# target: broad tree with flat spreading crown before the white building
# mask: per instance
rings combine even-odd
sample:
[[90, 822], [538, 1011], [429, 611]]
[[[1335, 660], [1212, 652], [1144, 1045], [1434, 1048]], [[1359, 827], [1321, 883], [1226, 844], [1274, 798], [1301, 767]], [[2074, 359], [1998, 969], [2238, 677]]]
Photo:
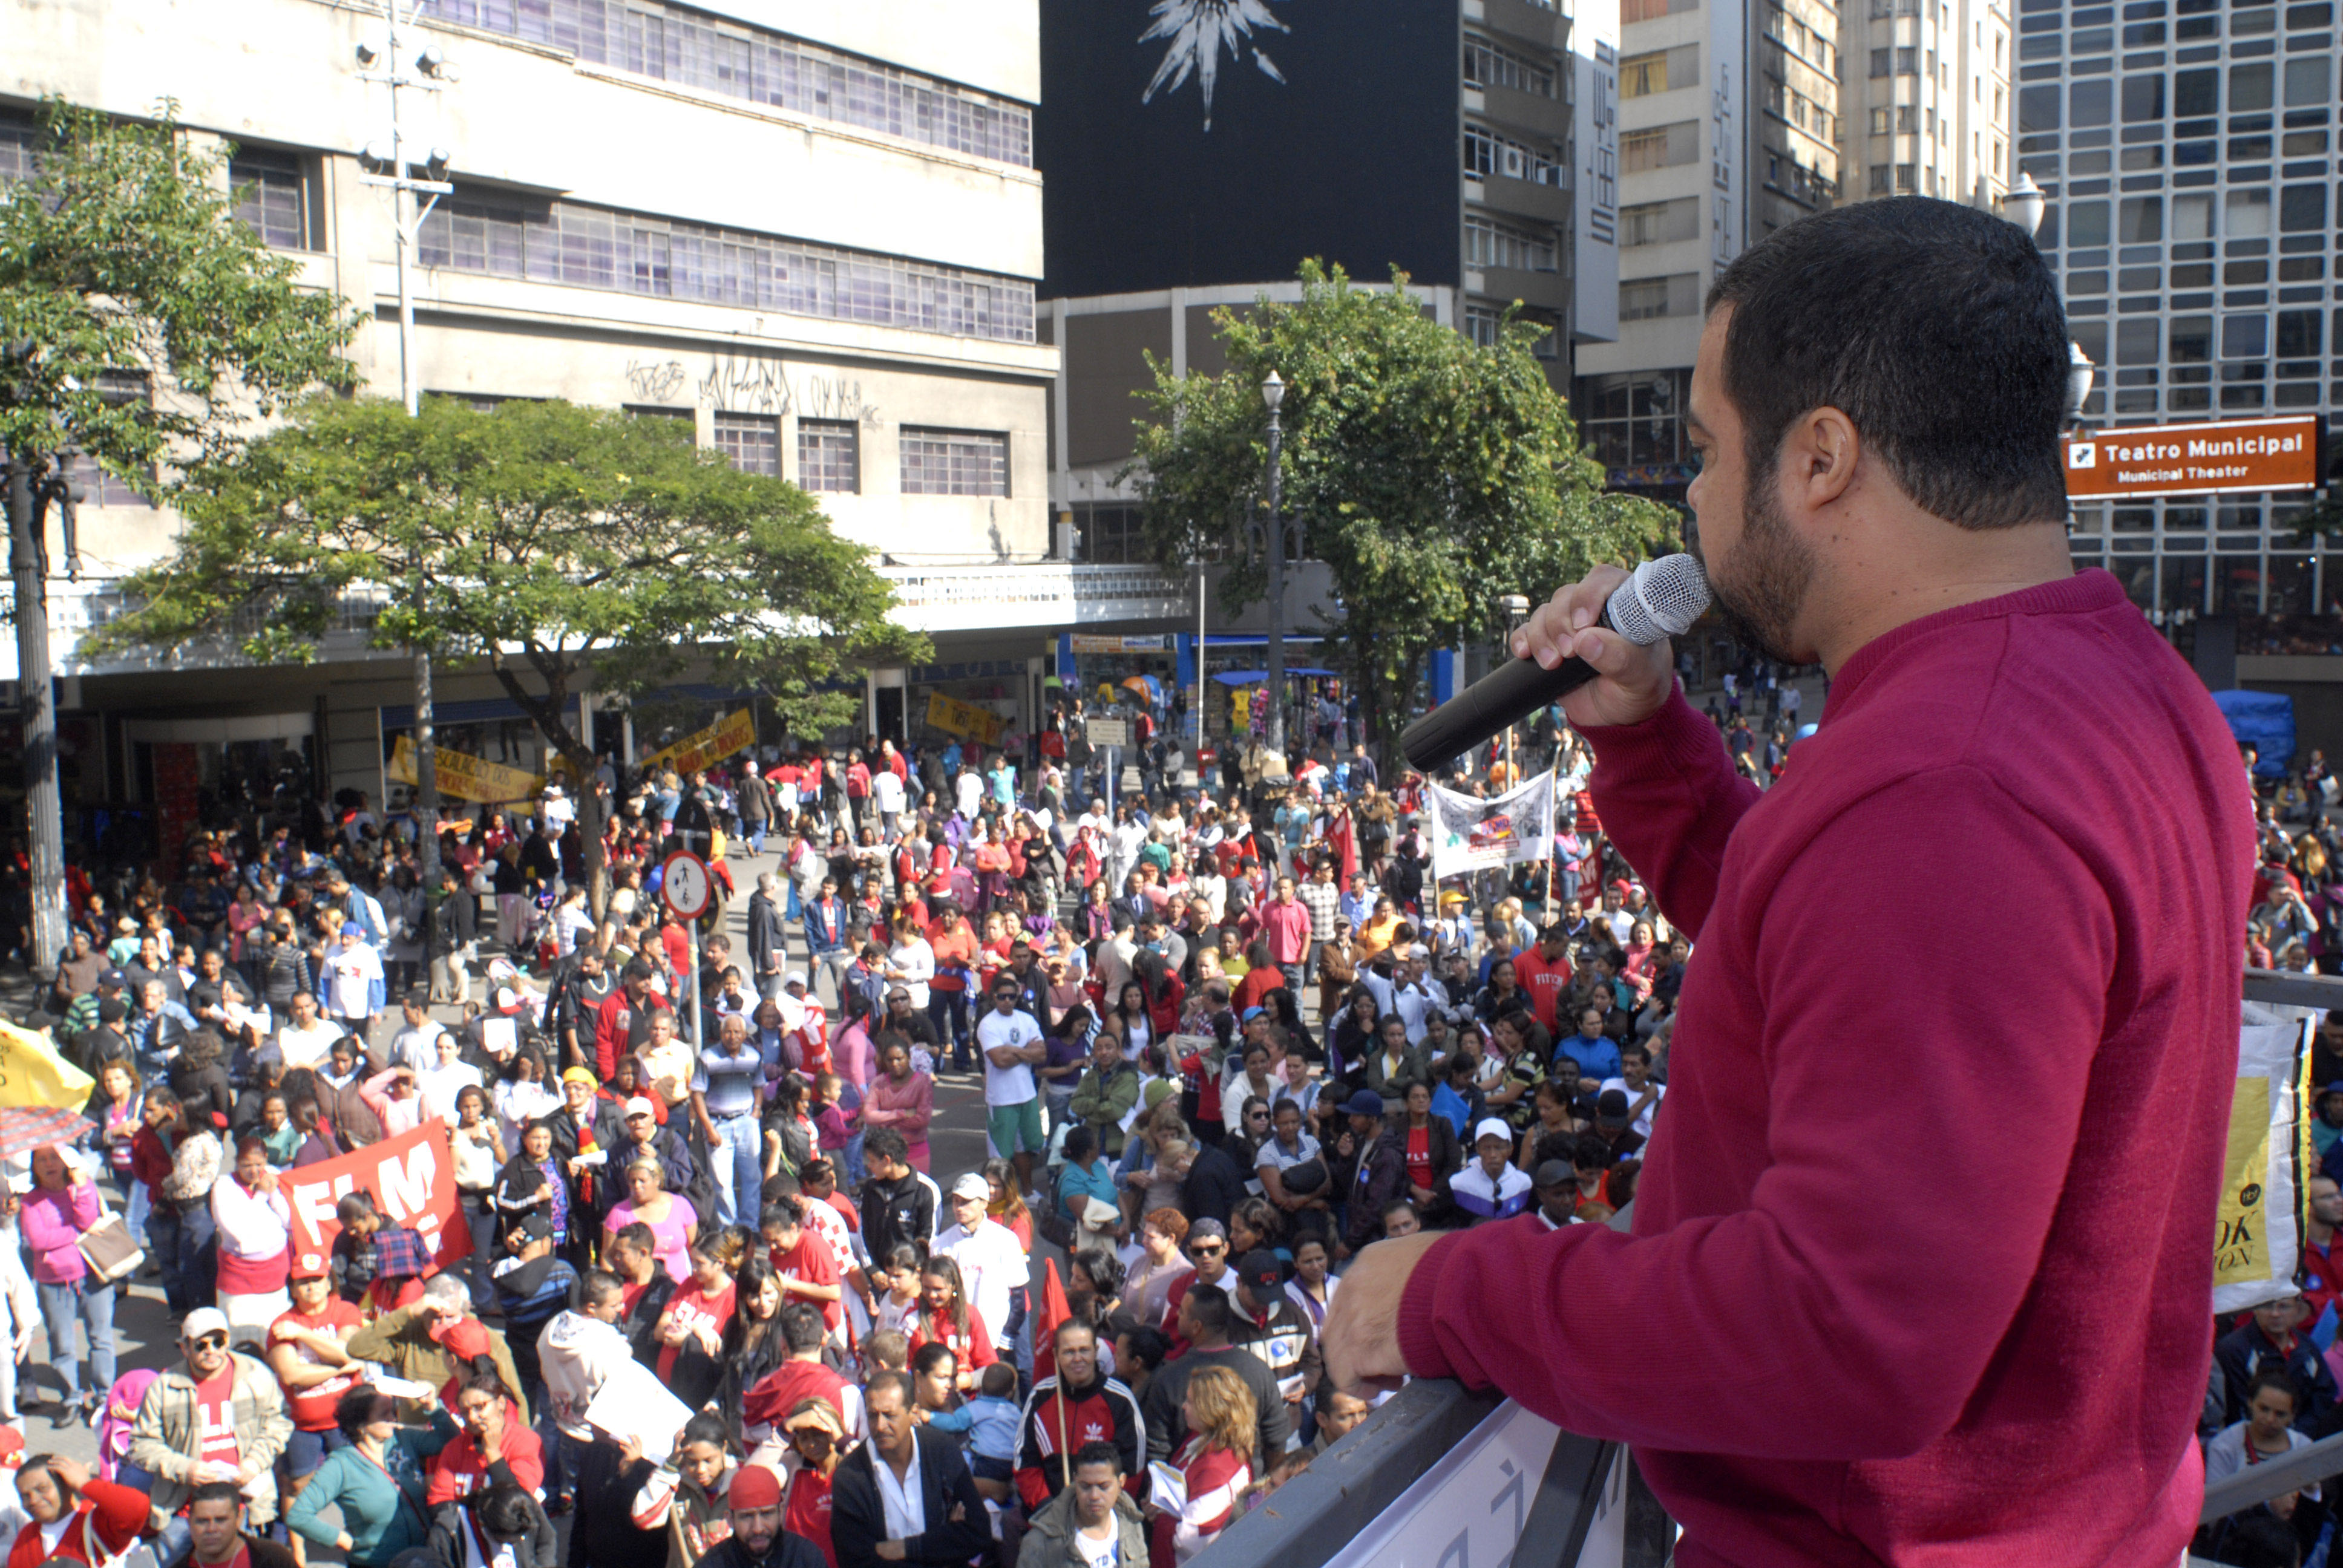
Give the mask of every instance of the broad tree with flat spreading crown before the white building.
[[[644, 696], [705, 670], [797, 731], [853, 720], [862, 661], [918, 661], [890, 584], [780, 478], [736, 471], [677, 420], [574, 403], [478, 413], [424, 398], [316, 398], [190, 473], [178, 551], [131, 579], [105, 640], [227, 638], [255, 663], [316, 656], [349, 598], [380, 598], [375, 647], [483, 659], [567, 771], [595, 757], [579, 691]], [[579, 790], [593, 902], [602, 806]]]

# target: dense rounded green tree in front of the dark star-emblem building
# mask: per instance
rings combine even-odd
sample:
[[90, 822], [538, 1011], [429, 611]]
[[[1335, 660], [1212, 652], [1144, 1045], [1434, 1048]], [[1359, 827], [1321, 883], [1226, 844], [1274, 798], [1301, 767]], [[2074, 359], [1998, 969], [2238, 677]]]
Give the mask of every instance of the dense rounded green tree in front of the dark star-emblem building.
[[1221, 600], [1258, 600], [1261, 382], [1286, 380], [1286, 527], [1333, 574], [1328, 659], [1350, 670], [1368, 734], [1387, 741], [1432, 649], [1502, 635], [1507, 593], [1544, 598], [1596, 563], [1657, 553], [1675, 539], [1675, 513], [1603, 492], [1603, 466], [1579, 452], [1570, 408], [1530, 352], [1544, 328], [1509, 314], [1483, 349], [1427, 316], [1396, 267], [1389, 291], [1354, 288], [1314, 260], [1300, 279], [1300, 302], [1214, 312], [1221, 375], [1176, 377], [1150, 359], [1132, 476], [1157, 560], [1225, 560]]

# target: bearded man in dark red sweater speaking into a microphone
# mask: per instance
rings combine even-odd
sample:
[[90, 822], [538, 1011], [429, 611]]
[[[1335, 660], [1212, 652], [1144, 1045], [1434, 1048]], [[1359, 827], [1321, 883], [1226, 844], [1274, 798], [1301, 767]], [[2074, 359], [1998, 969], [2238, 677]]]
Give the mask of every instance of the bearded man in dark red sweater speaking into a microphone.
[[[2195, 1523], [2252, 806], [2188, 666], [2069, 565], [2064, 377], [2017, 227], [1781, 230], [1710, 295], [1692, 504], [1741, 640], [1830, 670], [1821, 731], [1736, 778], [1668, 645], [1596, 626], [1610, 567], [1516, 640], [1600, 673], [1565, 710], [1603, 823], [1699, 940], [1668, 1104], [1633, 1235], [1371, 1247], [1326, 1364], [1631, 1441], [1685, 1568], [2170, 1568]], [[2027, 888], [2020, 963], [1980, 886]], [[1619, 1324], [1642, 1352], [1584, 1352]]]

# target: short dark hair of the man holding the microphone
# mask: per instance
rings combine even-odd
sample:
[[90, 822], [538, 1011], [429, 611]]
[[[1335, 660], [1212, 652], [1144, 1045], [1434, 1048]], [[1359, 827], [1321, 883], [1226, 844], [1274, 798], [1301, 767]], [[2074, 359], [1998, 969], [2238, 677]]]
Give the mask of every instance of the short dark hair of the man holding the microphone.
[[2067, 518], [2067, 312], [2015, 223], [1926, 197], [1856, 202], [1743, 251], [1708, 291], [1720, 305], [1753, 492], [1790, 424], [1828, 405], [1956, 527]]

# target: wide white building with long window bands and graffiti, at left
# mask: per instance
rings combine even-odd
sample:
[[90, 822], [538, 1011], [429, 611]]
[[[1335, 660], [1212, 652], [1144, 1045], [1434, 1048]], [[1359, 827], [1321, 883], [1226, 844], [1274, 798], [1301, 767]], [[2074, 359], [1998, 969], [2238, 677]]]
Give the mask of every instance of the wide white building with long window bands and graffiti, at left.
[[[356, 152], [389, 131], [382, 75], [405, 73], [405, 136], [445, 148], [455, 185], [412, 255], [419, 387], [675, 417], [794, 478], [883, 553], [902, 619], [937, 640], [937, 666], [874, 675], [869, 717], [900, 727], [923, 687], [1029, 715], [1043, 628], [1125, 609], [1047, 560], [1031, 0], [401, 12], [419, 14], [382, 59], [380, 0], [0, 0], [0, 176], [26, 166], [45, 94], [112, 115], [173, 98], [194, 136], [234, 141], [239, 213], [300, 281], [366, 312], [363, 387], [396, 396], [391, 204]], [[157, 757], [185, 748], [206, 788], [274, 757], [382, 799], [412, 698], [405, 663], [356, 633], [262, 680], [80, 659], [80, 628], [173, 527], [91, 478], [84, 584], [54, 586], [68, 802], [143, 804]], [[438, 696], [443, 745], [541, 762], [478, 670], [450, 663]]]

